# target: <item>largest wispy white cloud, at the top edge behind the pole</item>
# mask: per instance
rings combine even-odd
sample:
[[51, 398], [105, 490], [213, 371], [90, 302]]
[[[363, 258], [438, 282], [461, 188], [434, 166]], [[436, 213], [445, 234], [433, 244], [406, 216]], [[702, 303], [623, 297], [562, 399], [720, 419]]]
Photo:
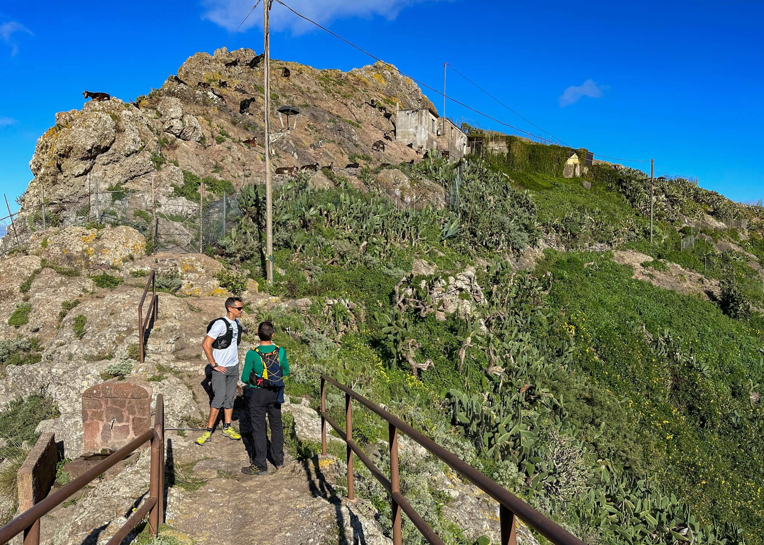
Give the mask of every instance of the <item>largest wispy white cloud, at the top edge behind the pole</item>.
[[[418, 4], [424, 0], [290, 0], [288, 3], [295, 11], [321, 24], [348, 17], [371, 17], [381, 15], [393, 20], [403, 8]], [[252, 9], [256, 0], [202, 0], [205, 11], [202, 18], [219, 24], [227, 31], [235, 31], [241, 20]], [[266, 0], [262, 0], [266, 2]], [[274, 2], [270, 11], [270, 25], [274, 30], [291, 30], [301, 34], [313, 27], [308, 21], [298, 18], [283, 5]], [[241, 26], [240, 32], [251, 27], [263, 26], [262, 3], [252, 12]]]

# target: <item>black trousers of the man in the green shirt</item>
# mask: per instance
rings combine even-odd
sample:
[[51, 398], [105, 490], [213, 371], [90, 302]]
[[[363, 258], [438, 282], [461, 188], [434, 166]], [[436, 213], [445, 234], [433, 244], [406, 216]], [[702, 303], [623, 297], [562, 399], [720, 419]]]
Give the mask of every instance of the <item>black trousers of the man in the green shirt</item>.
[[254, 437], [254, 463], [260, 469], [267, 469], [268, 438], [265, 431], [265, 415], [270, 424], [270, 455], [273, 463], [284, 463], [284, 431], [281, 423], [281, 404], [277, 403], [278, 390], [251, 388], [249, 395], [249, 417]]

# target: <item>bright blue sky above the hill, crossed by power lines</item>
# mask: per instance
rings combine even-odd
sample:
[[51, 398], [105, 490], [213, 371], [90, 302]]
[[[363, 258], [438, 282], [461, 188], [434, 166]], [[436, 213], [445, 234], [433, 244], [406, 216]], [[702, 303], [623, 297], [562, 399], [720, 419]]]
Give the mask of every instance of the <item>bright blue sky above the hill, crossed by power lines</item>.
[[[128, 99], [160, 86], [188, 56], [225, 44], [253, 2], [2, 2], [2, 192], [24, 190], [37, 137], [57, 111], [81, 108], [86, 88]], [[574, 147], [654, 157], [656, 176], [698, 176], [737, 201], [764, 197], [764, 2], [285, 2], [436, 89], [450, 63]], [[274, 58], [373, 62], [278, 5], [273, 18]], [[228, 48], [260, 52], [261, 24], [258, 7]], [[447, 93], [538, 132], [450, 70]], [[454, 103], [446, 114], [501, 128]]]

